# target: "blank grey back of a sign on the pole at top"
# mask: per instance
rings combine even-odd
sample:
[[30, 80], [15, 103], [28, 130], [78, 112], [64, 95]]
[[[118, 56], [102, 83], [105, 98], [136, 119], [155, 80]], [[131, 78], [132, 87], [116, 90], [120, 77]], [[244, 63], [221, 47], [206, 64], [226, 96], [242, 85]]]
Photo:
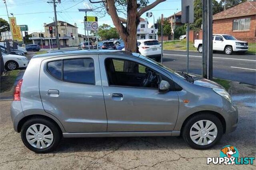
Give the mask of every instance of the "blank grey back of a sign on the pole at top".
[[181, 11], [182, 23], [194, 22], [194, 0], [181, 0]]

